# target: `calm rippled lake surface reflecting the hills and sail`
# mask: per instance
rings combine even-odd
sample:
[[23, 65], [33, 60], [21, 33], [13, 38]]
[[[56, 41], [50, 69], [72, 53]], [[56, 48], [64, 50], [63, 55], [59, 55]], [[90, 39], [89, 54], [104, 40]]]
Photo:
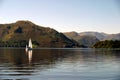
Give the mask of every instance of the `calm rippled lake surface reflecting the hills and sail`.
[[0, 80], [120, 80], [120, 50], [1, 48]]

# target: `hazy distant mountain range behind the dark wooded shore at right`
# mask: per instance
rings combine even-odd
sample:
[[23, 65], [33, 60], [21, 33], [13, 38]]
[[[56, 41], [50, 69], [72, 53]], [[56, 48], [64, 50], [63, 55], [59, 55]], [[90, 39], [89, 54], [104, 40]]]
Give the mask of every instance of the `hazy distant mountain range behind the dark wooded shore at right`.
[[99, 32], [66, 32], [64, 33], [68, 38], [76, 40], [79, 44], [85, 46], [92, 46], [96, 42], [104, 40], [120, 40], [120, 33], [118, 34], [106, 34]]

